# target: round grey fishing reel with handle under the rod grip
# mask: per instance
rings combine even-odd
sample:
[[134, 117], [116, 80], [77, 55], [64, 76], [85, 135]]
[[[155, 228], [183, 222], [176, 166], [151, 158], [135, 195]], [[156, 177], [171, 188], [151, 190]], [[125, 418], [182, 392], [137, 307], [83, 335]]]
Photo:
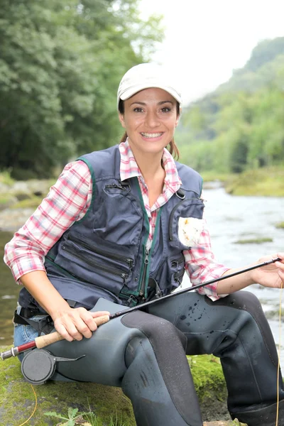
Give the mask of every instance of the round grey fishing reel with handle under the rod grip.
[[62, 358], [54, 356], [45, 349], [33, 349], [23, 357], [21, 371], [23, 377], [32, 385], [43, 385], [55, 373], [56, 363], [61, 361], [77, 361], [79, 358]]

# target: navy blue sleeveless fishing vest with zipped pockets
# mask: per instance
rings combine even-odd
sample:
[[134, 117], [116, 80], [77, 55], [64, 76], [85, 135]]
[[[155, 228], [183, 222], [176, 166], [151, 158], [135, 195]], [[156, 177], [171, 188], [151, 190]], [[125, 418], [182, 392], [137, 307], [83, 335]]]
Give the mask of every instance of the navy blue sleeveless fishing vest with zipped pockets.
[[[180, 190], [160, 207], [150, 251], [149, 221], [137, 178], [121, 182], [119, 146], [82, 155], [92, 175], [92, 201], [45, 256], [48, 278], [71, 306], [91, 309], [99, 297], [123, 305], [160, 297], [178, 287], [185, 272], [180, 218], [202, 219], [202, 178], [176, 162]], [[38, 306], [28, 291], [23, 307]]]

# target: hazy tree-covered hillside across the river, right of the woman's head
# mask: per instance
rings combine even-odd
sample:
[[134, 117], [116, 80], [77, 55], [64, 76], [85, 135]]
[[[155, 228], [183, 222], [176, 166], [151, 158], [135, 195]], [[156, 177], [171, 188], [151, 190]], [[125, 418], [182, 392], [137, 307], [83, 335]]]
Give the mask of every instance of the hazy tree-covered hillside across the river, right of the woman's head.
[[264, 40], [229, 82], [187, 107], [180, 158], [217, 173], [283, 165], [284, 38]]

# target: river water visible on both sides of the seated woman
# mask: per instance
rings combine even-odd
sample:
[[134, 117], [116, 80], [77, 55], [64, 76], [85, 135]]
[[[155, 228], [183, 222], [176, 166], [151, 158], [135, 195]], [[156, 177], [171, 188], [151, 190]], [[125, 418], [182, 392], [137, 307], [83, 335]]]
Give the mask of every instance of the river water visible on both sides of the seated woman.
[[[212, 238], [212, 247], [219, 262], [231, 268], [245, 267], [264, 254], [284, 251], [284, 229], [275, 225], [284, 221], [284, 198], [236, 197], [226, 194], [222, 187], [204, 189], [205, 216]], [[24, 221], [23, 221], [24, 222]], [[11, 232], [0, 232], [0, 256]], [[270, 238], [262, 244], [238, 244], [239, 240]], [[186, 279], [186, 278], [185, 278]], [[13, 343], [11, 317], [18, 297], [18, 285], [13, 283], [9, 268], [0, 262], [0, 346]], [[252, 285], [263, 304], [277, 345], [280, 344], [280, 361], [284, 368], [284, 324], [281, 329], [279, 311], [284, 321], [284, 290], [261, 288]]]

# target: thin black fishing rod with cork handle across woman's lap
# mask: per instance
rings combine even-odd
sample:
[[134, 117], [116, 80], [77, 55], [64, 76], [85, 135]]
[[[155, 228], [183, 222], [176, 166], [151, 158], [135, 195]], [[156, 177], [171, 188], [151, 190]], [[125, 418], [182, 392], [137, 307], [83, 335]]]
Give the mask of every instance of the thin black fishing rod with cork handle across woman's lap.
[[[234, 277], [235, 275], [240, 275], [241, 273], [252, 271], [253, 269], [261, 268], [262, 266], [270, 265], [271, 263], [275, 263], [277, 261], [281, 261], [281, 259], [275, 258], [275, 259], [272, 259], [271, 261], [258, 263], [258, 265], [250, 266], [249, 268], [242, 269], [241, 271], [236, 271], [234, 273], [229, 273], [228, 275], [223, 275], [222, 277], [219, 277], [219, 278], [214, 278], [213, 280], [209, 280], [206, 283], [200, 283], [200, 284], [197, 284], [197, 285], [193, 285], [190, 288], [184, 288], [183, 290], [177, 291], [175, 293], [170, 293], [169, 295], [165, 295], [163, 297], [159, 297], [157, 299], [149, 300], [148, 302], [141, 303], [141, 305], [129, 307], [128, 309], [116, 312], [115, 314], [102, 315], [102, 317], [94, 318], [94, 322], [96, 322], [97, 327], [99, 327], [100, 325], [102, 325], [106, 322], [109, 322], [110, 320], [114, 320], [114, 318], [121, 317], [121, 315], [128, 314], [129, 312], [133, 312], [133, 311], [142, 309], [143, 307], [153, 305], [154, 303], [158, 303], [161, 300], [166, 300], [166, 299], [169, 299], [170, 297], [175, 297], [177, 295], [181, 295], [183, 293], [187, 293], [187, 292], [190, 292], [192, 290], [197, 290], [197, 288], [205, 287], [206, 285], [210, 285], [210, 284], [222, 281], [222, 280], [226, 280], [226, 278], [231, 278], [231, 277]], [[4, 359], [10, 358], [11, 356], [18, 356], [18, 354], [21, 354], [24, 351], [28, 351], [29, 349], [33, 349], [33, 348], [42, 349], [45, 346], [48, 346], [49, 344], [53, 344], [55, 342], [59, 342], [60, 340], [64, 340], [64, 337], [62, 337], [61, 334], [59, 334], [58, 332], [45, 334], [43, 336], [36, 337], [35, 340], [33, 340], [32, 342], [28, 342], [26, 344], [22, 344], [20, 346], [13, 347], [13, 348], [9, 349], [8, 351], [0, 352], [0, 357], [4, 361]]]

